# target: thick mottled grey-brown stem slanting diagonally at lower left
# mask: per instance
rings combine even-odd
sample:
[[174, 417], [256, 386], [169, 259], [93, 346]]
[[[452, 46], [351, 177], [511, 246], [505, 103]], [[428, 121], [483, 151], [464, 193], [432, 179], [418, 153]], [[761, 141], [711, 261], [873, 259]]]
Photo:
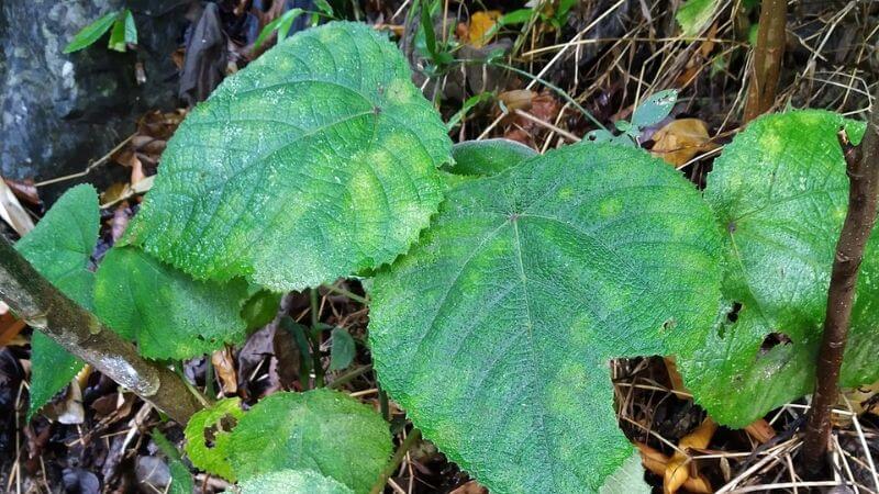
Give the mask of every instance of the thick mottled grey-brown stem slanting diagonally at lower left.
[[2, 236], [0, 300], [30, 326], [178, 423], [186, 424], [202, 408], [171, 370], [141, 357], [134, 345], [65, 296]]

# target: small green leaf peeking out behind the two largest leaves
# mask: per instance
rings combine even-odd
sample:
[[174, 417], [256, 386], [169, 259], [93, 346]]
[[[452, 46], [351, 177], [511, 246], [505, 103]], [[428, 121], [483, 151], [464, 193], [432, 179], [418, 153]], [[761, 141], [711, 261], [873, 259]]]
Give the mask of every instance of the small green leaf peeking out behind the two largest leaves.
[[455, 175], [491, 176], [537, 156], [537, 151], [510, 139], [466, 141], [452, 148]]

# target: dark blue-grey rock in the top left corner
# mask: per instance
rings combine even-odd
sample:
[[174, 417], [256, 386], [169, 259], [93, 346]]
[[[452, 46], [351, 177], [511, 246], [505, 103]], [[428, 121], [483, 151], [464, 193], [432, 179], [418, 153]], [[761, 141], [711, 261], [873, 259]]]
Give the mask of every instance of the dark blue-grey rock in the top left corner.
[[[0, 175], [45, 180], [81, 171], [134, 132], [141, 114], [177, 105], [170, 55], [190, 3], [0, 1]], [[134, 13], [136, 52], [111, 52], [104, 37], [81, 52], [62, 53], [84, 26], [123, 7]], [[144, 85], [135, 80], [138, 61]]]

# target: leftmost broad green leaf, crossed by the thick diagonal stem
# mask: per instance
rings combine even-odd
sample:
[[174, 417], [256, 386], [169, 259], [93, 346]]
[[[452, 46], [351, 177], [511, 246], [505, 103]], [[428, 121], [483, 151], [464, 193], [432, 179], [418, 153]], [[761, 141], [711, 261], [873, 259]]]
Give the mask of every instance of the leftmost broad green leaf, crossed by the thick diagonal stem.
[[[89, 258], [98, 242], [98, 194], [89, 186], [68, 190], [36, 227], [15, 244], [34, 269], [65, 295], [92, 308], [94, 276]], [[82, 361], [48, 336], [31, 338], [31, 402], [27, 416], [45, 405], [82, 369]]]

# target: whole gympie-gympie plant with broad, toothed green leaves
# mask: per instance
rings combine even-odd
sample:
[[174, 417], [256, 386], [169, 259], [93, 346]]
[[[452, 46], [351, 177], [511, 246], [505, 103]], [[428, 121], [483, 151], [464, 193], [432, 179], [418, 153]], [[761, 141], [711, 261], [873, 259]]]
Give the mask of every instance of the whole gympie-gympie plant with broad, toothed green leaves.
[[[381, 385], [480, 483], [646, 492], [616, 425], [611, 359], [677, 356], [696, 401], [736, 427], [811, 391], [846, 210], [841, 127], [864, 132], [822, 111], [759, 119], [704, 192], [610, 143], [453, 147], [397, 48], [330, 23], [191, 112], [96, 272], [88, 187], [16, 247], [153, 359], [241, 343], [278, 292], [370, 277]], [[844, 385], [879, 379], [875, 249]], [[32, 412], [81, 367], [41, 334], [33, 344]], [[369, 491], [391, 442], [374, 411], [314, 390], [247, 412], [221, 401], [190, 420], [186, 449], [245, 492], [347, 493]]]

